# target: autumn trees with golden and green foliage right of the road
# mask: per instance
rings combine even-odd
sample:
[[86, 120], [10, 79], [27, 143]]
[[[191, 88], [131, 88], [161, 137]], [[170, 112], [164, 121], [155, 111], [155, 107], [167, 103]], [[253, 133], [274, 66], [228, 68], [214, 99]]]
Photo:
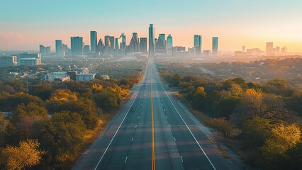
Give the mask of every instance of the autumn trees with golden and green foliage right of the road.
[[211, 117], [208, 125], [240, 141], [248, 163], [259, 169], [301, 169], [302, 93], [284, 79], [262, 85], [241, 78], [162, 76], [179, 87], [192, 108]]

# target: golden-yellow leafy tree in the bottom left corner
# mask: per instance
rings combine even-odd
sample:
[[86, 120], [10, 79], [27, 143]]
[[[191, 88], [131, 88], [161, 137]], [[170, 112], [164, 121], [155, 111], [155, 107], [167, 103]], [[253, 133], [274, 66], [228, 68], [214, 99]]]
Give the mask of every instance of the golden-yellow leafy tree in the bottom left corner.
[[40, 164], [44, 151], [39, 149], [38, 140], [19, 142], [18, 146], [7, 146], [0, 154], [0, 162], [5, 169], [25, 169]]

